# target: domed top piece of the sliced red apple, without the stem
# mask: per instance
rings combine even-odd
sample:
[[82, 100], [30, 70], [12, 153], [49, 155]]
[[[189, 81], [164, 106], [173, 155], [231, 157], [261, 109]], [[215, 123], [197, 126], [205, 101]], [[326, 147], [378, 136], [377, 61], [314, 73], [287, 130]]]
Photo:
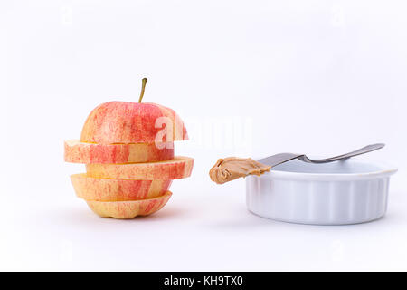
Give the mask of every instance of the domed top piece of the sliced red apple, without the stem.
[[[167, 117], [173, 134], [165, 142], [187, 140], [184, 122], [172, 109], [150, 102], [105, 102], [90, 112], [83, 125], [80, 141], [99, 144], [156, 142], [163, 127], [156, 120]], [[164, 126], [165, 127], [165, 126]]]

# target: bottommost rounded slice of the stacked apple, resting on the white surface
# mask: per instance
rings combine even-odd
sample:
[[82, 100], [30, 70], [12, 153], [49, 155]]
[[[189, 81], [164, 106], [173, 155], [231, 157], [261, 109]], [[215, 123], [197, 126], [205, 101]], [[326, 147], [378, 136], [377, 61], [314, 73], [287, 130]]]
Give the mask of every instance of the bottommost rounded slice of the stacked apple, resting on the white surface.
[[86, 202], [91, 210], [103, 218], [135, 218], [151, 215], [163, 208], [171, 195], [171, 191], [166, 191], [158, 198], [128, 201], [86, 200]]

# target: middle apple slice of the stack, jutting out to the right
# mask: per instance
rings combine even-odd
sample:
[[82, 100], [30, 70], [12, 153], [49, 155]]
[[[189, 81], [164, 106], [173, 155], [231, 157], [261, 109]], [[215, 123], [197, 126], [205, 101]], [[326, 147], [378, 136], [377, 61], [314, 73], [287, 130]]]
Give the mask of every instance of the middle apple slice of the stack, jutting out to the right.
[[185, 179], [191, 175], [194, 159], [177, 156], [173, 160], [129, 163], [87, 164], [87, 175], [98, 179]]

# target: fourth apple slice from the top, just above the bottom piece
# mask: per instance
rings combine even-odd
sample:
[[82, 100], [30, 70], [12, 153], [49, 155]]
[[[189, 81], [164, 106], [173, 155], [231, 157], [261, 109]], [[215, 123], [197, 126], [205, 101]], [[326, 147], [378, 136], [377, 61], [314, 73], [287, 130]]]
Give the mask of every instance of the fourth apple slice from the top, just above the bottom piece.
[[121, 201], [156, 198], [169, 189], [172, 180], [94, 179], [73, 174], [71, 181], [79, 198], [98, 201]]

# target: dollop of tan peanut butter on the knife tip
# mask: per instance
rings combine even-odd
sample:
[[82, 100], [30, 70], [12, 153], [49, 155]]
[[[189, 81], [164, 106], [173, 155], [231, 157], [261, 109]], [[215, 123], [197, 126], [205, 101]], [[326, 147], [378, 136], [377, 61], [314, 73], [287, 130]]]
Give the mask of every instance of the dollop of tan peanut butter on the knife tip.
[[213, 168], [209, 171], [211, 179], [218, 183], [244, 178], [249, 174], [260, 176], [266, 171], [270, 171], [270, 166], [261, 164], [251, 158], [228, 157], [217, 160]]

